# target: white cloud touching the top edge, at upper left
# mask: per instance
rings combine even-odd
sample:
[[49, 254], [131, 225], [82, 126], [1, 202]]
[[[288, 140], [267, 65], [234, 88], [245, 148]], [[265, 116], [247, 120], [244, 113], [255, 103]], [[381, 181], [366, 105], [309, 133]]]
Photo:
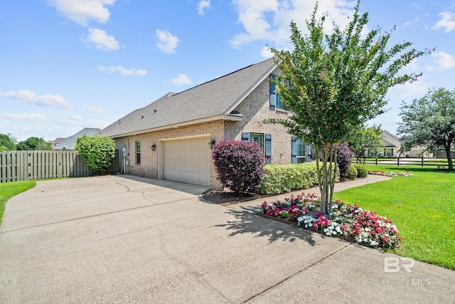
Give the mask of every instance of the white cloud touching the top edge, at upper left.
[[116, 0], [49, 0], [60, 16], [73, 20], [82, 26], [90, 21], [105, 23], [109, 20], [106, 6], [113, 5]]

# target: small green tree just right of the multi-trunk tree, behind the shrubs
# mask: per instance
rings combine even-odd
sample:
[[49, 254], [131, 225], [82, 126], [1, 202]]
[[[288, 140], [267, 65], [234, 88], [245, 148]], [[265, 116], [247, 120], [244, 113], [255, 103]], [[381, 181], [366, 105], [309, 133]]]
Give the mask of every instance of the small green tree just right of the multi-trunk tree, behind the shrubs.
[[[365, 164], [366, 158], [371, 154], [373, 154], [373, 157], [377, 156], [378, 149], [382, 145], [381, 133], [380, 125], [368, 127], [368, 125], [362, 124], [350, 130], [348, 145], [354, 154], [356, 163]], [[370, 150], [370, 153], [368, 153], [368, 150]]]

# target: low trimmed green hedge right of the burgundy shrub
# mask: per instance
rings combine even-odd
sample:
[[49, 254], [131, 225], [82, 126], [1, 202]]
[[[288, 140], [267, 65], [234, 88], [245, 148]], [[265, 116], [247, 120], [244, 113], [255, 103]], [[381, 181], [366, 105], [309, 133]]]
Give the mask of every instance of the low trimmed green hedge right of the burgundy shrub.
[[[339, 181], [337, 170], [336, 181]], [[316, 162], [302, 164], [267, 164], [258, 189], [259, 194], [281, 194], [297, 189], [308, 189], [318, 184]]]

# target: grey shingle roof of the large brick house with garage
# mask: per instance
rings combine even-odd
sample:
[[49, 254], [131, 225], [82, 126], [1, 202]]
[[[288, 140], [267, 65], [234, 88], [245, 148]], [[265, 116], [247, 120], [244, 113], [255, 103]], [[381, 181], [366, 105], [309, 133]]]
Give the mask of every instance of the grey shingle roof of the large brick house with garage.
[[102, 130], [101, 134], [116, 137], [228, 114], [275, 66], [273, 58], [269, 58], [181, 93], [168, 93], [120, 118]]

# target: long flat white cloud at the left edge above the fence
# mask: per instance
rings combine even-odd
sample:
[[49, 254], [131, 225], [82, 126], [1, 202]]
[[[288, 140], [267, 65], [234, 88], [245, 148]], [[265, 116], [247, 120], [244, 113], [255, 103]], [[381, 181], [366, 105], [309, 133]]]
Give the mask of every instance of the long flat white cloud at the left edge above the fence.
[[10, 97], [15, 100], [23, 101], [24, 103], [34, 103], [36, 105], [43, 105], [46, 107], [61, 107], [65, 109], [73, 108], [69, 103], [68, 100], [63, 98], [60, 94], [50, 95], [38, 95], [36, 96], [35, 92], [31, 90], [18, 90], [18, 91], [8, 91], [8, 92], [1, 92], [0, 96], [3, 97]]

